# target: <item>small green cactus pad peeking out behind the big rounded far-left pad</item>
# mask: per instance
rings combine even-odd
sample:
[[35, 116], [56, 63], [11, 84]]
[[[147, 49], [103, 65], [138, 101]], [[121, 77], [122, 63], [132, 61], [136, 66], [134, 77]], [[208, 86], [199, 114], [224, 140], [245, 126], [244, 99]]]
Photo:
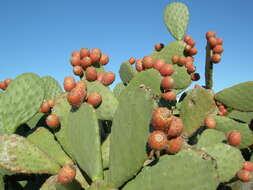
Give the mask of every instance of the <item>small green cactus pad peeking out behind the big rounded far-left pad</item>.
[[44, 76], [41, 80], [44, 83], [45, 100], [55, 99], [62, 93], [61, 85], [53, 77]]

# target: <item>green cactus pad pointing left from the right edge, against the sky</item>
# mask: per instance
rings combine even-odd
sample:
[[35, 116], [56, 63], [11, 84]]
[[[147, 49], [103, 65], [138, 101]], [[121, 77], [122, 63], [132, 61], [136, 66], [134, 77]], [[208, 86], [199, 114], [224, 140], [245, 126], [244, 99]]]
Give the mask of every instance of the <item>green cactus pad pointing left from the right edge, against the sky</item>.
[[240, 111], [253, 111], [253, 81], [226, 88], [215, 99], [224, 105]]

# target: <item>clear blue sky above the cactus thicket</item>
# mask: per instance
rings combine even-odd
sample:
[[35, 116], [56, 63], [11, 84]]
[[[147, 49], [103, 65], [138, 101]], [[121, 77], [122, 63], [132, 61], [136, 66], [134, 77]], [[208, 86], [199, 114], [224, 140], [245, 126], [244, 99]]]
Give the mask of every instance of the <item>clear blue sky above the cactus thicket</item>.
[[[174, 41], [163, 23], [170, 0], [1, 0], [0, 80], [24, 72], [50, 75], [61, 84], [73, 75], [71, 52], [100, 48], [110, 56], [105, 67], [118, 73], [131, 56], [150, 55], [155, 43]], [[196, 40], [197, 71], [204, 84], [205, 32], [224, 40], [215, 65], [214, 91], [252, 77], [253, 1], [183, 0], [190, 11], [187, 34]], [[77, 77], [76, 77], [77, 78]], [[120, 78], [114, 82], [119, 82]], [[195, 83], [194, 83], [195, 84]]]

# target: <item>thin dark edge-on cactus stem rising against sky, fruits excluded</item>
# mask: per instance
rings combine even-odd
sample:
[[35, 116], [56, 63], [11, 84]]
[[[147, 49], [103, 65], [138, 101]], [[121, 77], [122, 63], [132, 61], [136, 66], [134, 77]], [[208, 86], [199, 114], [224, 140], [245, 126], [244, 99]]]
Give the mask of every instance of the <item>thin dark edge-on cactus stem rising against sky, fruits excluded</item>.
[[213, 88], [213, 63], [211, 61], [212, 50], [210, 45], [206, 45], [206, 66], [205, 66], [205, 79], [206, 89]]

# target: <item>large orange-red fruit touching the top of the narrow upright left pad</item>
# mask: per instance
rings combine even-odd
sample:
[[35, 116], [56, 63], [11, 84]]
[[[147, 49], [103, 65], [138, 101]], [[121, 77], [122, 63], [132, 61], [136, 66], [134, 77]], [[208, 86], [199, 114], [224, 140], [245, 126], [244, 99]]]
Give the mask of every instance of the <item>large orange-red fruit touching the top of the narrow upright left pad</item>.
[[67, 96], [67, 100], [71, 106], [80, 106], [85, 97], [87, 96], [87, 92], [85, 89], [81, 87], [75, 87]]

